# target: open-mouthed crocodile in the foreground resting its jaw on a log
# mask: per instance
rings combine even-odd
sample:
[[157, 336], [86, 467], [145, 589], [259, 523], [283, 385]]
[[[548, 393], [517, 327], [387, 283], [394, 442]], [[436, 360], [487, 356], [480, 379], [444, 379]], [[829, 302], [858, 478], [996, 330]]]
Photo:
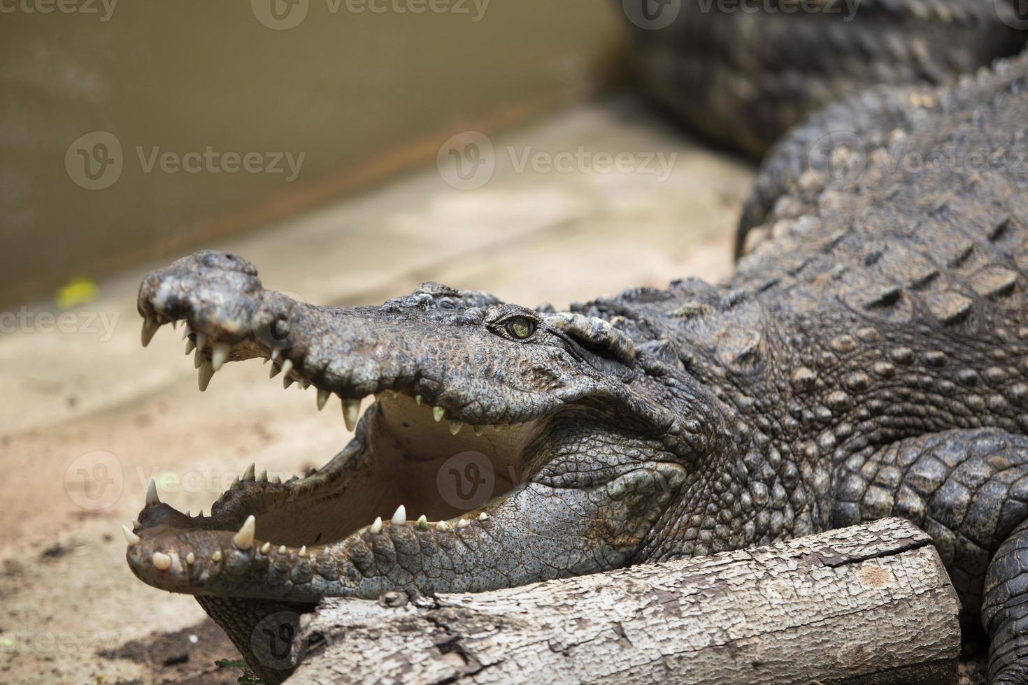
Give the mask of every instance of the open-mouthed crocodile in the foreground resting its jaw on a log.
[[[952, 44], [982, 40], [968, 26]], [[210, 516], [151, 483], [130, 568], [194, 595], [280, 682], [325, 597], [510, 587], [897, 516], [934, 541], [990, 682], [1028, 683], [1028, 54], [842, 97], [778, 126], [747, 203], [763, 237], [722, 283], [556, 311], [435, 282], [308, 304], [215, 251], [149, 273], [144, 345], [185, 321], [200, 390], [260, 358], [318, 409], [337, 397], [354, 437], [302, 478], [251, 464]], [[841, 131], [845, 154], [815, 145]]]

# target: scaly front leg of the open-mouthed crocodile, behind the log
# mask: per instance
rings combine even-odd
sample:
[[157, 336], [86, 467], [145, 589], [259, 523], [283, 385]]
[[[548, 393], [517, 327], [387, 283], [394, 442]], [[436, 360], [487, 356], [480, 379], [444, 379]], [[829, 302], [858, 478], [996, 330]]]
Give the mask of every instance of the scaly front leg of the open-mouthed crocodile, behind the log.
[[934, 539], [965, 636], [980, 617], [986, 630], [990, 681], [1028, 682], [1028, 437], [948, 430], [853, 455], [837, 471], [833, 524], [888, 516]]

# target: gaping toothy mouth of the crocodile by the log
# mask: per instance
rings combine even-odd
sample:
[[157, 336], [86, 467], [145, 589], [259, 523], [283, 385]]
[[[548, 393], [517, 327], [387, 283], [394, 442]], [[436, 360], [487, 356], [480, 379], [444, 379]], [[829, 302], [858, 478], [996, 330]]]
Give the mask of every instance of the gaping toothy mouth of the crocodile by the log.
[[[157, 319], [144, 321], [144, 345], [159, 326]], [[131, 566], [146, 582], [204, 594], [221, 584], [211, 582], [219, 574], [263, 570], [261, 596], [274, 587], [284, 591], [280, 599], [297, 601], [348, 594], [363, 571], [358, 560], [339, 564], [326, 555], [331, 545], [350, 540], [350, 546], [374, 547], [376, 536], [390, 529], [395, 535], [399, 528], [434, 542], [472, 526], [487, 529], [490, 502], [521, 480], [522, 456], [539, 420], [472, 423], [457, 418], [461, 408], [442, 404], [444, 392], [427, 397], [421, 392], [429, 389], [402, 386], [379, 390], [360, 416], [361, 397], [321, 387], [321, 379], [305, 375], [303, 361], [288, 350], [262, 353], [251, 341], [217, 342], [193, 326], [186, 322], [183, 339], [186, 353], [194, 354], [200, 390], [227, 361], [264, 356], [269, 375], [281, 376], [285, 388], [314, 386], [319, 410], [334, 401], [356, 436], [302, 478], [269, 480], [250, 464], [211, 516], [190, 517], [161, 503], [151, 482], [146, 506], [133, 529], [124, 529]], [[297, 584], [306, 589], [296, 593]], [[238, 584], [235, 589], [247, 594]]]

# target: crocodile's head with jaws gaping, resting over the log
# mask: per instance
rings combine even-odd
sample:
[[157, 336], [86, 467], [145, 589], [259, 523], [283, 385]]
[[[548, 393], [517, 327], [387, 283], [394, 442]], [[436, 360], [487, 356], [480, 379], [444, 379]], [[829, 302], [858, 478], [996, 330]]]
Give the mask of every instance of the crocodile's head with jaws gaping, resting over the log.
[[201, 390], [222, 365], [261, 358], [355, 429], [304, 478], [251, 465], [207, 517], [151, 484], [127, 559], [159, 588], [314, 603], [612, 569], [685, 479], [688, 431], [633, 340], [600, 318], [437, 283], [381, 306], [310, 305], [218, 252], [147, 275], [138, 307], [144, 344], [186, 321]]

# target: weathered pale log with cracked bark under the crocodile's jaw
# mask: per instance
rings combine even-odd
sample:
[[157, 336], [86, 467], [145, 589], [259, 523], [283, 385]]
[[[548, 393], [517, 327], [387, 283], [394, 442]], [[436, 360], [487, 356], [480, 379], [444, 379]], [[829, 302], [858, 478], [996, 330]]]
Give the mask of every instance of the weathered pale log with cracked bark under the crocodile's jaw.
[[290, 682], [946, 683], [958, 608], [927, 535], [885, 519], [477, 595], [327, 600]]

